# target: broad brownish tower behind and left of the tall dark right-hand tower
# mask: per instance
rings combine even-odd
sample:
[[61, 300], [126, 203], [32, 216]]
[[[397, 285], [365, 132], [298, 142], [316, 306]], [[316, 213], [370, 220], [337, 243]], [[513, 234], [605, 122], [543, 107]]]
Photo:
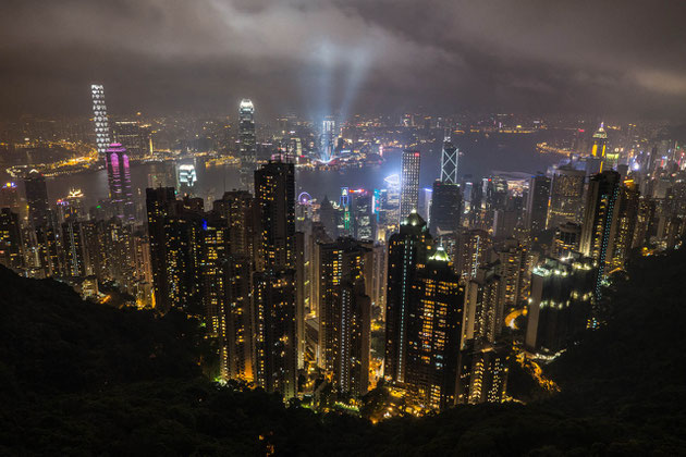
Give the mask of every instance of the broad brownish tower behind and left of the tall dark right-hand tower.
[[548, 228], [565, 222], [578, 223], [584, 208], [584, 170], [561, 166], [555, 170], [550, 189]]

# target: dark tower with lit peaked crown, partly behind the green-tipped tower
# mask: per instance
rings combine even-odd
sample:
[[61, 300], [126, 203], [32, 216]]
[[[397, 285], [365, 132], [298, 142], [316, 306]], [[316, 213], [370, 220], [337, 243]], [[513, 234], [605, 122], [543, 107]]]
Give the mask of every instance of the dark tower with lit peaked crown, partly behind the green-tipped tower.
[[383, 375], [395, 382], [405, 381], [412, 284], [417, 268], [426, 263], [431, 249], [431, 235], [416, 211], [403, 220], [400, 233], [393, 234], [388, 244]]

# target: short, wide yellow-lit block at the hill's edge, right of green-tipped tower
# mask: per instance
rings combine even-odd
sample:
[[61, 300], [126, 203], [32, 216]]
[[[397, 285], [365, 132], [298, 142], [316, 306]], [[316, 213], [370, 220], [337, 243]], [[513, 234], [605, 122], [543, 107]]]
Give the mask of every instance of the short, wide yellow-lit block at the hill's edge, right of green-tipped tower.
[[510, 349], [505, 344], [468, 341], [460, 351], [458, 404], [505, 400]]

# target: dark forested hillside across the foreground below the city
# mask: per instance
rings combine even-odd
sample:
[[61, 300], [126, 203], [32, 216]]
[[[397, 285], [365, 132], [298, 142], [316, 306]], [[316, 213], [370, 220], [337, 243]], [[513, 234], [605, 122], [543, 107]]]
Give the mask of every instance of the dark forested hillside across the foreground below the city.
[[628, 270], [607, 326], [549, 367], [559, 395], [372, 427], [217, 386], [201, 375], [197, 322], [82, 301], [0, 268], [0, 454], [685, 454], [686, 254]]

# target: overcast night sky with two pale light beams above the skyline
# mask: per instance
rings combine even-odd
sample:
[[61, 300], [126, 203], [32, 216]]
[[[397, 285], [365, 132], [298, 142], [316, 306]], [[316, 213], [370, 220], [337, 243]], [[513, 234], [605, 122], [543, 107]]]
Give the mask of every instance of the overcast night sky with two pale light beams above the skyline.
[[686, 2], [2, 0], [0, 114], [686, 116]]

